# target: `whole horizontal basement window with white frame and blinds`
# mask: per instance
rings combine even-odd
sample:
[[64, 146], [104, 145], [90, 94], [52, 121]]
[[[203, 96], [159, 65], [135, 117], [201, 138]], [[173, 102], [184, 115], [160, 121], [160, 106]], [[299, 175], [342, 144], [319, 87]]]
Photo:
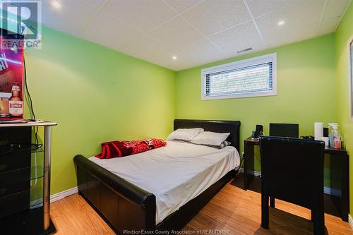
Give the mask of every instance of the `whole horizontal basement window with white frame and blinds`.
[[277, 54], [201, 70], [201, 100], [277, 95]]

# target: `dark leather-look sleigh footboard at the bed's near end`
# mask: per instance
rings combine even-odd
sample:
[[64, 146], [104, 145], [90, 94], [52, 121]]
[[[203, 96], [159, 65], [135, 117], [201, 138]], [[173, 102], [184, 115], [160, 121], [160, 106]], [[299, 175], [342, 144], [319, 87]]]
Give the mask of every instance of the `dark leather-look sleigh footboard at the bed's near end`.
[[[107, 169], [76, 155], [78, 191], [115, 232], [155, 230], [155, 195], [121, 179]], [[116, 213], [117, 212], [117, 213]]]

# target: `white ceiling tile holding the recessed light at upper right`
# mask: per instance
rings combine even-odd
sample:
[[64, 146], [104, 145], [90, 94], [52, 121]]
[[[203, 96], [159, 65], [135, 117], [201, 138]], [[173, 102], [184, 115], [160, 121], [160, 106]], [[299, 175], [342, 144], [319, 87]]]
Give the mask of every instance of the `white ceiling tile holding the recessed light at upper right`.
[[[297, 42], [318, 35], [323, 11], [322, 0], [306, 0], [256, 18], [258, 28], [269, 47]], [[280, 20], [285, 25], [278, 26]]]

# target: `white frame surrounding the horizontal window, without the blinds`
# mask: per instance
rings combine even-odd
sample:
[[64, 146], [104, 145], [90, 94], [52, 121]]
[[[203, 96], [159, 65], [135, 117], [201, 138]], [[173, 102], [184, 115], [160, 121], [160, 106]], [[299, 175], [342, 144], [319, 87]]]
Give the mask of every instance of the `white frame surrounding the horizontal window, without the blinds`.
[[[272, 61], [273, 65], [273, 90], [256, 91], [256, 92], [243, 92], [232, 95], [206, 95], [206, 75], [208, 73], [217, 73], [222, 71], [231, 70], [234, 68], [251, 66]], [[244, 59], [241, 61], [235, 61], [227, 64], [221, 64], [219, 66], [213, 66], [209, 68], [201, 69], [201, 100], [223, 100], [223, 99], [237, 99], [244, 97], [263, 97], [263, 96], [275, 96], [277, 95], [277, 53], [266, 54], [263, 56], [257, 56], [250, 59]]]

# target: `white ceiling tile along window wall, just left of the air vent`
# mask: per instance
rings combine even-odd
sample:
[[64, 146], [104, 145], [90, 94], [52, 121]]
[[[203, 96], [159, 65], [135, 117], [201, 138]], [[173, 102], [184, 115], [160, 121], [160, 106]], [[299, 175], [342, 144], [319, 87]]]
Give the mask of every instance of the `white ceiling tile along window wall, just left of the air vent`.
[[178, 58], [175, 61], [177, 67], [183, 69], [208, 64], [227, 57], [215, 44], [205, 38], [173, 49], [173, 54]]

